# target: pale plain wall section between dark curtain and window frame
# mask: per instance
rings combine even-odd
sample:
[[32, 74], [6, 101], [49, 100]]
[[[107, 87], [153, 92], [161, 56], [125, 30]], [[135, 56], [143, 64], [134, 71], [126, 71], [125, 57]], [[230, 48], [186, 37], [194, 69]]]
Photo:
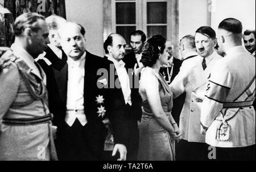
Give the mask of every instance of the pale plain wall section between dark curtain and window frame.
[[84, 26], [86, 50], [101, 57], [104, 55], [103, 1], [65, 0], [67, 20]]

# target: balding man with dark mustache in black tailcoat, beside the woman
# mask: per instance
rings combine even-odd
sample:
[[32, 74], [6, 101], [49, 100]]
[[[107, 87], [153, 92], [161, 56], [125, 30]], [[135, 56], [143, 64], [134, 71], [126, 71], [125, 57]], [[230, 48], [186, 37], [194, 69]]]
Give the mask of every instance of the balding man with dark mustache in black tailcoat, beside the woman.
[[105, 83], [102, 89], [105, 92], [106, 115], [114, 132], [113, 155], [118, 150], [121, 154], [119, 160], [137, 160], [139, 142], [137, 120], [142, 115], [142, 100], [138, 88], [133, 88], [131, 85], [133, 69], [122, 61], [125, 46], [125, 39], [117, 33], [110, 34], [104, 42], [106, 55], [101, 68], [106, 69], [108, 75], [102, 76], [101, 79], [105, 79], [108, 83]]

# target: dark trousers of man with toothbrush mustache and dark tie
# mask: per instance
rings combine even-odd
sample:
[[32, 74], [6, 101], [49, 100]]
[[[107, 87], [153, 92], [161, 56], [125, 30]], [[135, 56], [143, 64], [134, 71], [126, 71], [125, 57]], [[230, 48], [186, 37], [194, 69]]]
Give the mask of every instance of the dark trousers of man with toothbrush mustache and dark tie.
[[189, 142], [187, 140], [176, 141], [175, 154], [177, 161], [207, 161], [208, 147], [206, 143]]

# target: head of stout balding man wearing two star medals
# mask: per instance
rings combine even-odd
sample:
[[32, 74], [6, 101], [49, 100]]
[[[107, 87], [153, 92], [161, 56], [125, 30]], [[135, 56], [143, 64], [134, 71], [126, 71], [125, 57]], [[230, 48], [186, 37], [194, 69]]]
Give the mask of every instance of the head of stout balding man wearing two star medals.
[[75, 61], [85, 52], [85, 38], [81, 33], [80, 25], [67, 22], [59, 29], [61, 46], [68, 57]]

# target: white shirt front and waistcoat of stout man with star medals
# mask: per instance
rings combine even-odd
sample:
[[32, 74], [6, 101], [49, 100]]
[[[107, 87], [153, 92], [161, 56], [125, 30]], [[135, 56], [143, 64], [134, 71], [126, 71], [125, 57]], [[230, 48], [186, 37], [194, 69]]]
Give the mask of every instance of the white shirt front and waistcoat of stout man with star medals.
[[84, 71], [85, 55], [74, 61], [68, 57], [68, 91], [67, 91], [67, 113], [65, 122], [72, 126], [76, 118], [85, 126], [87, 123], [84, 114]]

